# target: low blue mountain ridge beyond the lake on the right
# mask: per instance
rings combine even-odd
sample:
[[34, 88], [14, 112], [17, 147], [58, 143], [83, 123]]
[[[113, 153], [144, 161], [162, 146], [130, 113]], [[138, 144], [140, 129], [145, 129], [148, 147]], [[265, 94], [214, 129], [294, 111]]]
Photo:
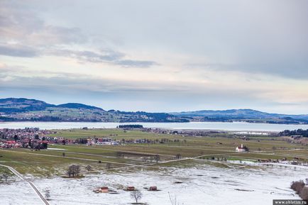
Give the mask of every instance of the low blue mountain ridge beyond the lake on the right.
[[251, 123], [308, 123], [308, 115], [266, 113], [253, 109], [202, 110], [170, 113], [190, 121], [246, 121]]

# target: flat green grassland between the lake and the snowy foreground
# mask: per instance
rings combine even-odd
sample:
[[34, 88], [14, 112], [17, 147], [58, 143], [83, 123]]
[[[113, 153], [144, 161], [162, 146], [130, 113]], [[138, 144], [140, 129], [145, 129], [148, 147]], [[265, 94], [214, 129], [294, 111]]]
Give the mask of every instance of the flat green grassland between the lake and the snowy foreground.
[[[49, 145], [52, 150], [33, 151], [30, 149], [0, 149], [0, 163], [14, 167], [22, 174], [34, 176], [65, 175], [67, 167], [78, 164], [82, 172], [84, 167], [91, 165], [94, 172], [116, 171], [119, 169], [134, 170], [139, 167], [191, 166], [194, 163], [207, 163], [220, 167], [228, 167], [216, 162], [219, 157], [229, 160], [288, 160], [299, 157], [303, 162], [308, 161], [308, 147], [295, 143], [287, 143], [282, 138], [251, 137], [243, 140], [234, 134], [213, 134], [207, 137], [182, 137], [148, 133], [143, 131], [123, 131], [121, 129], [89, 129], [57, 131], [53, 136], [64, 138], [114, 138], [180, 140], [180, 142], [128, 144], [125, 145]], [[236, 153], [237, 145], [244, 144], [250, 148], [249, 153]], [[275, 149], [273, 149], [275, 147]], [[65, 157], [63, 157], [65, 153]], [[175, 159], [180, 154], [181, 159]], [[155, 155], [160, 155], [158, 164]], [[214, 157], [215, 160], [209, 160]], [[1, 170], [0, 170], [1, 172]]]

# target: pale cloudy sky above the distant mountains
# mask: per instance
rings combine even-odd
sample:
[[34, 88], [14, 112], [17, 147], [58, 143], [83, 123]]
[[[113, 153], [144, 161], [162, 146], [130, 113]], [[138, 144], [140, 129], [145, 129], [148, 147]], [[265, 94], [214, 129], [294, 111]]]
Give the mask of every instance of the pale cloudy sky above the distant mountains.
[[0, 0], [0, 98], [308, 113], [306, 0]]

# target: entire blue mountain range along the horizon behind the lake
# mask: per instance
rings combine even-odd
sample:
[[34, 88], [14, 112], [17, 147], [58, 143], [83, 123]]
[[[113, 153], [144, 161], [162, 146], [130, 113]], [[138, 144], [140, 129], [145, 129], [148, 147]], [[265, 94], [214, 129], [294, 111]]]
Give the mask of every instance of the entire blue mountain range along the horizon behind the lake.
[[48, 104], [25, 98], [0, 99], [0, 121], [92, 121], [92, 122], [188, 122], [246, 121], [250, 123], [308, 123], [308, 115], [265, 113], [253, 109], [225, 111], [186, 111], [179, 113], [148, 113], [144, 111], [105, 111], [79, 103]]

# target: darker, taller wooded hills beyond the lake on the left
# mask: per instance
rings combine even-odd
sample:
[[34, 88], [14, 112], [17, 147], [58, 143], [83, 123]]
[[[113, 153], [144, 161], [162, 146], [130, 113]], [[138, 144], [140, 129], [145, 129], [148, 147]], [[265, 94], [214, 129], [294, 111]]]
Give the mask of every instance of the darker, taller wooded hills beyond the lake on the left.
[[104, 111], [86, 104], [48, 104], [24, 98], [0, 99], [0, 121], [187, 122], [169, 113]]

